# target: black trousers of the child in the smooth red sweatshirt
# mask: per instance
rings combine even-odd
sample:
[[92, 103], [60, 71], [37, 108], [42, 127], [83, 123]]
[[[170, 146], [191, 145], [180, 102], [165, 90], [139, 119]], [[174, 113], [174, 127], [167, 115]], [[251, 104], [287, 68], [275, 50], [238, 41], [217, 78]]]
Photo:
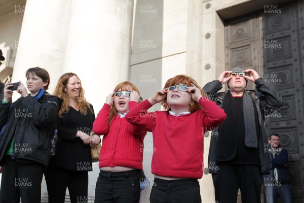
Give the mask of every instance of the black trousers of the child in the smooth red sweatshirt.
[[200, 184], [197, 179], [154, 179], [150, 193], [151, 203], [196, 203], [202, 202]]

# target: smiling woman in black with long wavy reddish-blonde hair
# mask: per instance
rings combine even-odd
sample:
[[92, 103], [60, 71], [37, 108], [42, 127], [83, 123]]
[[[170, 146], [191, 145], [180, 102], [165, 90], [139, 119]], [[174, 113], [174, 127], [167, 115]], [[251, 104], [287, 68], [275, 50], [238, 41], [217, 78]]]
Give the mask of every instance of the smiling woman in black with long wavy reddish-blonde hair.
[[89, 144], [98, 144], [100, 138], [90, 138], [95, 115], [84, 92], [74, 73], [63, 74], [54, 91], [63, 104], [57, 119], [58, 150], [45, 174], [49, 203], [64, 202], [66, 188], [71, 202], [88, 200], [88, 172], [92, 171]]

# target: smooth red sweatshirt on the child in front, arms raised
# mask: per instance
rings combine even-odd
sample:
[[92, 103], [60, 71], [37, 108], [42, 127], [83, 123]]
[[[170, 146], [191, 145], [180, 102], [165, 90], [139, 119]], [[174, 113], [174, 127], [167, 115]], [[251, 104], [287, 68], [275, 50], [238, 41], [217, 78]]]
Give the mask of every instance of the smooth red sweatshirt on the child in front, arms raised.
[[[130, 101], [129, 104], [134, 105], [133, 103], [136, 104], [135, 101]], [[126, 115], [126, 120], [136, 127], [153, 132], [153, 174], [202, 178], [204, 129], [218, 126], [226, 119], [226, 114], [205, 97], [201, 97], [199, 103], [204, 110], [173, 116], [167, 111], [146, 113], [152, 106], [146, 99]]]

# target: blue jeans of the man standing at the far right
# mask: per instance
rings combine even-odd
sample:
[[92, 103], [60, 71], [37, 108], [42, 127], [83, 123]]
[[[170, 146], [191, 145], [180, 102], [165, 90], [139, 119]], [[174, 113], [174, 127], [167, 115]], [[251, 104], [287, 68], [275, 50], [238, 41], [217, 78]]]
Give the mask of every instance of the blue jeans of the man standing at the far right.
[[283, 203], [291, 203], [291, 187], [289, 183], [265, 182], [265, 196], [267, 203], [277, 203], [278, 196]]

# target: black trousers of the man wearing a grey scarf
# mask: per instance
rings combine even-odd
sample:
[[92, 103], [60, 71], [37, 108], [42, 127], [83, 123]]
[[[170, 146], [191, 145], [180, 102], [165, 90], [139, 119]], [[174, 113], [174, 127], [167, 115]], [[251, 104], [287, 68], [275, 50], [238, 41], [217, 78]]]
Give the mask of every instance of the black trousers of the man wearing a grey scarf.
[[212, 174], [215, 200], [220, 203], [237, 202], [241, 190], [242, 202], [261, 202], [263, 178], [257, 165], [219, 165], [218, 172]]

